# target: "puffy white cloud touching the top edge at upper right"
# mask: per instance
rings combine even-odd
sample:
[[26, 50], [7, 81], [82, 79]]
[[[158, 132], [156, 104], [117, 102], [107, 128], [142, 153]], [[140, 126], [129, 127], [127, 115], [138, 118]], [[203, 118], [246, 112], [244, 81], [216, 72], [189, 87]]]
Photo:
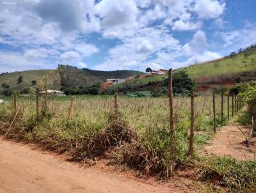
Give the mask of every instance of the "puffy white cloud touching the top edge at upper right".
[[195, 12], [202, 19], [217, 18], [224, 12], [225, 6], [218, 0], [196, 0]]

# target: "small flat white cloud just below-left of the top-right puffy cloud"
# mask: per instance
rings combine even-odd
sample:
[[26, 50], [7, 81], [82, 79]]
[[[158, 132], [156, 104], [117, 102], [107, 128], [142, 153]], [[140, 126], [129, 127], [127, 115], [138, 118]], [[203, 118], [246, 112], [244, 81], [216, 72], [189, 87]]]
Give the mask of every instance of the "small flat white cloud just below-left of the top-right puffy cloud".
[[202, 21], [197, 22], [184, 22], [183, 20], [176, 20], [173, 24], [172, 30], [179, 30], [179, 31], [187, 31], [187, 30], [195, 30], [202, 27]]

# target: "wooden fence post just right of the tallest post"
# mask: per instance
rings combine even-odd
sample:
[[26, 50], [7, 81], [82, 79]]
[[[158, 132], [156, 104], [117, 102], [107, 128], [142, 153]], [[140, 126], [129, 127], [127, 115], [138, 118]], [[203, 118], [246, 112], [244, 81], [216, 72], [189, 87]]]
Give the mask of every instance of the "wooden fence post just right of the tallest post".
[[190, 134], [189, 134], [189, 151], [188, 155], [193, 153], [194, 142], [194, 128], [195, 128], [195, 92], [191, 90], [191, 120], [190, 120]]

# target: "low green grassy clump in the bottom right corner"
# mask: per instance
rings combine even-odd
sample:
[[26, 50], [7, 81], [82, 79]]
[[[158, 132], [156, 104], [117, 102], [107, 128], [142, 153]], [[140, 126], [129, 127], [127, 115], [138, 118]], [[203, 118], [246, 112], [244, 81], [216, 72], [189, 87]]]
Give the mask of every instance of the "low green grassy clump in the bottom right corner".
[[218, 183], [228, 189], [252, 189], [256, 183], [256, 162], [231, 157], [206, 157], [199, 163], [198, 179]]

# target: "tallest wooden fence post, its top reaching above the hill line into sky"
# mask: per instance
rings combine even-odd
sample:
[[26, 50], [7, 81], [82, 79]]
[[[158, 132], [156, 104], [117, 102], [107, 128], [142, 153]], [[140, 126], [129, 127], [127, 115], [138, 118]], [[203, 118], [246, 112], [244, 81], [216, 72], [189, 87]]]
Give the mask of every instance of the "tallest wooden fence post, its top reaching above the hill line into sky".
[[170, 111], [170, 138], [174, 139], [174, 118], [173, 118], [173, 91], [172, 91], [172, 68], [168, 71], [168, 92], [169, 92], [169, 111]]

